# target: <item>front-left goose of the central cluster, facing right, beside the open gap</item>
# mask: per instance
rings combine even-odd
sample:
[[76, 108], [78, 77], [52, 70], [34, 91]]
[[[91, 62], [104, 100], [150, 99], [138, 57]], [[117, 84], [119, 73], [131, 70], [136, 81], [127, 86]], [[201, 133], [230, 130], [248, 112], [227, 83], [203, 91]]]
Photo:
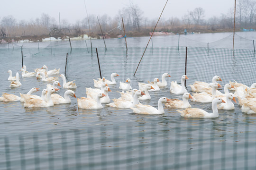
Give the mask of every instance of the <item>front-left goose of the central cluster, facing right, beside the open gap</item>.
[[77, 98], [77, 106], [82, 109], [102, 109], [101, 97], [104, 96], [106, 96], [104, 93], [97, 94], [97, 101], [86, 97]]

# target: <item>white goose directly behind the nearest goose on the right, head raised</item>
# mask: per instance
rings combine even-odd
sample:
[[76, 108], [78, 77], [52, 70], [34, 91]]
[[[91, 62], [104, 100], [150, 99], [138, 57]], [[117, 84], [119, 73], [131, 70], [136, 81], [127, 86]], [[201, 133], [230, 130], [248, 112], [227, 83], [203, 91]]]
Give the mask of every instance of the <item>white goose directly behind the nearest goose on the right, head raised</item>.
[[219, 85], [219, 83], [214, 83], [212, 85], [212, 94], [208, 94], [205, 92], [201, 92], [201, 93], [193, 93], [193, 99], [191, 99], [191, 101], [193, 102], [212, 102], [213, 98], [215, 98], [216, 95], [216, 89], [220, 88], [221, 85]]

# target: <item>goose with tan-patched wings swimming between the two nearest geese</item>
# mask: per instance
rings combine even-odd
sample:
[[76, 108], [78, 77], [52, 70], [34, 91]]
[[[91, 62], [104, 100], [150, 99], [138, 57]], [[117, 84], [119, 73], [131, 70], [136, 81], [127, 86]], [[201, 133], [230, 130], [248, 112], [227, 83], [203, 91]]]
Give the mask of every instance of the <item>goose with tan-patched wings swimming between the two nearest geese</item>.
[[190, 93], [184, 93], [182, 96], [182, 101], [179, 99], [170, 99], [170, 101], [165, 103], [165, 106], [167, 108], [191, 108], [191, 105], [188, 101], [188, 99], [193, 99]]

